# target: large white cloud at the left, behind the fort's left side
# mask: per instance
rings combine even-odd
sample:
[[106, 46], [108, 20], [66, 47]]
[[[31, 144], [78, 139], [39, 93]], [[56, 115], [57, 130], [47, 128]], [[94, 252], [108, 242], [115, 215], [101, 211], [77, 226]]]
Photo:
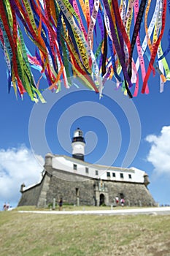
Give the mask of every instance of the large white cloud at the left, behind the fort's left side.
[[18, 203], [20, 185], [28, 187], [39, 182], [44, 159], [41, 156], [36, 159], [26, 146], [0, 149], [0, 203]]

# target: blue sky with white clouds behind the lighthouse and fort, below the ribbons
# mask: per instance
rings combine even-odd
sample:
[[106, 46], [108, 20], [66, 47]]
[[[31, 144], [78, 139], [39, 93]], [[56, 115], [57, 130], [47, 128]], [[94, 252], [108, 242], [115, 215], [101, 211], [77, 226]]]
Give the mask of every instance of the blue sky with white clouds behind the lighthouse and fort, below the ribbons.
[[[167, 29], [163, 36], [165, 47]], [[167, 61], [170, 64], [170, 55]], [[77, 127], [85, 135], [85, 161], [115, 166], [122, 166], [124, 161], [145, 170], [155, 201], [170, 204], [169, 81], [160, 93], [159, 78], [151, 75], [150, 94], [139, 92], [133, 99], [116, 91], [111, 81], [107, 82], [101, 99], [83, 87], [63, 89], [58, 94], [45, 91], [48, 102], [34, 105], [27, 95], [22, 101], [15, 98], [14, 91], [8, 94], [2, 52], [0, 74], [0, 209], [8, 201], [16, 206], [20, 184], [28, 186], [39, 181], [47, 151], [72, 154], [71, 138]], [[129, 155], [125, 157], [127, 151]]]

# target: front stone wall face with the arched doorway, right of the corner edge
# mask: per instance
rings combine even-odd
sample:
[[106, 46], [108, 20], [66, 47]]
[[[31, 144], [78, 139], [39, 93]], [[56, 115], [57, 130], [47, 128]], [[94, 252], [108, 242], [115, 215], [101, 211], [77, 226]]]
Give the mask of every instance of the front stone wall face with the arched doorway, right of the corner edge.
[[[100, 195], [105, 197], [105, 204], [111, 205], [115, 197], [123, 196], [125, 205], [128, 206], [155, 206], [155, 201], [144, 184], [103, 181], [104, 190], [98, 188], [98, 179], [77, 176], [74, 173], [63, 173], [61, 170], [53, 170], [47, 192], [47, 203], [52, 203], [53, 198], [58, 201], [61, 197], [65, 203], [76, 204], [77, 197], [80, 205], [99, 205]], [[78, 195], [77, 195], [78, 189]]]

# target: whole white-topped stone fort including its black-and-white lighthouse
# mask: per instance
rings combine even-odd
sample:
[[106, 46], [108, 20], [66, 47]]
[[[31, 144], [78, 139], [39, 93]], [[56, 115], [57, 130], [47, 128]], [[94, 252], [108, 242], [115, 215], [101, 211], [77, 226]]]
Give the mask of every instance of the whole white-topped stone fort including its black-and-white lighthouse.
[[115, 205], [115, 197], [119, 197], [128, 206], [155, 206], [143, 170], [93, 165], [84, 158], [85, 139], [77, 128], [72, 138], [72, 157], [48, 153], [42, 180], [27, 188], [21, 185], [18, 206], [45, 207], [61, 197], [63, 202], [75, 205]]

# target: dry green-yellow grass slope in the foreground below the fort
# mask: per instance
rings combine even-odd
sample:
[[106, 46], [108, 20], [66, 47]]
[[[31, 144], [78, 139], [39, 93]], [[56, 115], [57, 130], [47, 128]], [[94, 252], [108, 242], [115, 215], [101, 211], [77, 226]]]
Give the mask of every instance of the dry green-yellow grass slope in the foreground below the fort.
[[170, 255], [169, 215], [68, 216], [17, 211], [28, 209], [35, 208], [0, 212], [1, 256]]

